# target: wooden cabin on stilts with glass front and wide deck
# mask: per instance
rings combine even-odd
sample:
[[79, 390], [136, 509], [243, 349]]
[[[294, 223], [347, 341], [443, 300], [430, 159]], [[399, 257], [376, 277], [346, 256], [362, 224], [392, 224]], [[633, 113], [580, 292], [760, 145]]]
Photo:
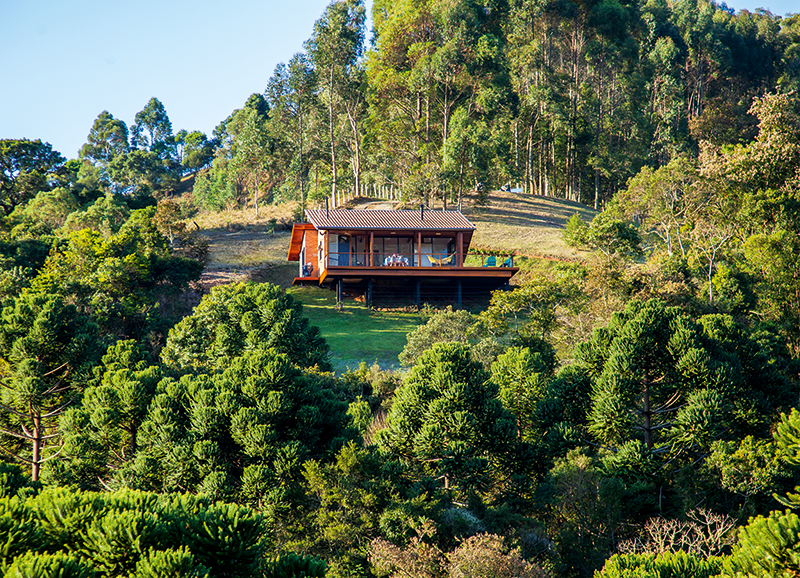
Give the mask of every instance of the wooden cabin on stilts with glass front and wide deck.
[[[295, 284], [318, 284], [365, 295], [452, 300], [488, 295], [519, 270], [509, 255], [465, 265], [475, 226], [459, 211], [309, 210], [295, 224], [289, 261]], [[474, 261], [474, 260], [473, 260]], [[426, 299], [426, 300], [427, 300]]]

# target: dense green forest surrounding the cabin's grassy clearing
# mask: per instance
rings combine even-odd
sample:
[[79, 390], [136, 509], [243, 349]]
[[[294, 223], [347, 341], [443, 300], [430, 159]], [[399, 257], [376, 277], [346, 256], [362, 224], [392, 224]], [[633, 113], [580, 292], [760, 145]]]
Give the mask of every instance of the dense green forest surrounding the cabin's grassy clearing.
[[[5, 575], [799, 575], [800, 16], [365, 21], [334, 0], [210, 136], [153, 98], [77, 159], [0, 141]], [[509, 183], [598, 209], [591, 258], [426, 309], [404, 371], [332, 371], [276, 285], [197, 299], [198, 211]]]

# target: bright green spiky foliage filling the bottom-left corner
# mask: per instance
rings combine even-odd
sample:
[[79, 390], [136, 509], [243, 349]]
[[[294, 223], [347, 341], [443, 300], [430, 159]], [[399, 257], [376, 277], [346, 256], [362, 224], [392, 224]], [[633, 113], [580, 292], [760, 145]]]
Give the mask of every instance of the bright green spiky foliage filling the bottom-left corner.
[[266, 545], [259, 515], [202, 497], [49, 489], [14, 508], [13, 531], [38, 530], [2, 552], [14, 576], [251, 576]]

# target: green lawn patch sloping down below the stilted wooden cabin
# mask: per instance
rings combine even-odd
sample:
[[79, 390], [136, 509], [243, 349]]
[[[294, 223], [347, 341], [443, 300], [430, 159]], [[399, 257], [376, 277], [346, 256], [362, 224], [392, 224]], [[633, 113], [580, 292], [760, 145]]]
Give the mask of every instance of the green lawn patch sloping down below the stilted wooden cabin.
[[417, 313], [370, 311], [358, 301], [345, 299], [336, 310], [336, 293], [316, 287], [292, 287], [287, 291], [303, 304], [303, 313], [319, 327], [328, 342], [337, 372], [355, 369], [362, 361], [384, 369], [397, 368], [397, 356], [406, 335], [420, 323]]

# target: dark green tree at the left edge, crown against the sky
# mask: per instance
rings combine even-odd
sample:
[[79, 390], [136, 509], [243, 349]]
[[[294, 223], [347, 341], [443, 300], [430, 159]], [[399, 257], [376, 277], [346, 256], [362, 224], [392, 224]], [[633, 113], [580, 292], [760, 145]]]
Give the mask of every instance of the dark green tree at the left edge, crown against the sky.
[[0, 140], [0, 208], [6, 215], [49, 187], [65, 159], [40, 140]]

